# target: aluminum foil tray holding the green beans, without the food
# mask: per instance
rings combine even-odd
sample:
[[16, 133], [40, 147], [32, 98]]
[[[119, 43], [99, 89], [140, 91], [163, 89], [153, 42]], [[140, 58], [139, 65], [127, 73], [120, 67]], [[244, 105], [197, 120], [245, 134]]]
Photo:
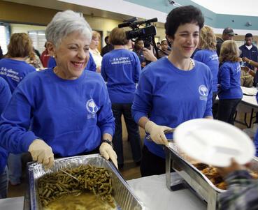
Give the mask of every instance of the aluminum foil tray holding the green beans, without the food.
[[102, 158], [99, 154], [88, 156], [74, 156], [69, 158], [59, 158], [51, 170], [45, 171], [40, 163], [28, 163], [29, 174], [29, 197], [30, 209], [43, 209], [38, 196], [38, 179], [45, 174], [57, 172], [59, 169], [78, 167], [79, 165], [91, 164], [96, 167], [105, 167], [111, 173], [113, 189], [117, 209], [140, 210], [145, 209], [143, 203], [132, 193], [128, 183], [122, 178], [115, 165]]

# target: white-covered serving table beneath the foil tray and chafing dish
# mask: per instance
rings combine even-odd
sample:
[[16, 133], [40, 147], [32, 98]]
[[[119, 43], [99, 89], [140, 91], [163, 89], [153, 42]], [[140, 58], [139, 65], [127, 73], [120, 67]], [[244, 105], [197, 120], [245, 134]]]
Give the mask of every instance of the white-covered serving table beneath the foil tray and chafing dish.
[[[138, 200], [143, 202], [146, 210], [202, 210], [207, 208], [206, 203], [189, 189], [171, 191], [166, 188], [166, 174], [131, 179], [127, 183]], [[0, 199], [0, 209], [22, 210], [23, 206], [23, 196]]]

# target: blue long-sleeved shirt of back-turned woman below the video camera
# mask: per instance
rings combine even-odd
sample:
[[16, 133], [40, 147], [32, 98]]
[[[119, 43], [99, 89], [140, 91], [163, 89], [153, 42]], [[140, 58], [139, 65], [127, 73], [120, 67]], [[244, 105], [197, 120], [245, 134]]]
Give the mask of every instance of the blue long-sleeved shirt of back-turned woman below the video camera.
[[133, 103], [140, 71], [135, 52], [119, 49], [103, 56], [101, 75], [107, 82], [111, 103]]

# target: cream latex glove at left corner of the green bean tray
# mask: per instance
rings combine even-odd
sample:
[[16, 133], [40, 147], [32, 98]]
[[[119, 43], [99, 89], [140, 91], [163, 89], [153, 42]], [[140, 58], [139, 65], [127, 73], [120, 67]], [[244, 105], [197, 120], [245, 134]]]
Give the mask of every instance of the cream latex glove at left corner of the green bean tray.
[[52, 148], [48, 146], [43, 140], [34, 140], [29, 145], [29, 150], [32, 159], [38, 163], [42, 163], [45, 169], [49, 169], [54, 164], [54, 154]]

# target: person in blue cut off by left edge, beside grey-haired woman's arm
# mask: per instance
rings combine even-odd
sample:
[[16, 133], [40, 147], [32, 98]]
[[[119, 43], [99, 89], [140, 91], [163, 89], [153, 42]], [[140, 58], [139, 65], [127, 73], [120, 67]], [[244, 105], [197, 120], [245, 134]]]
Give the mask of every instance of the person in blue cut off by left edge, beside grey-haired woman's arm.
[[[11, 97], [6, 80], [0, 77], [0, 115]], [[8, 169], [6, 167], [8, 151], [0, 147], [0, 199], [6, 198], [8, 190]]]

